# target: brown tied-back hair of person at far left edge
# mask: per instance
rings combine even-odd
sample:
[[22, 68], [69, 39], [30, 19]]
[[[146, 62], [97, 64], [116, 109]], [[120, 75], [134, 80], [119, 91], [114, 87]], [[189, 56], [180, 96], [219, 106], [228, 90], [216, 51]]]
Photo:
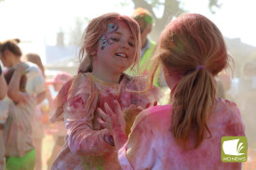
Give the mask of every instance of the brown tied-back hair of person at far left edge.
[[18, 44], [20, 43], [20, 39], [6, 40], [0, 42], [0, 52], [4, 54], [6, 50], [12, 52], [15, 56], [21, 57], [22, 53]]

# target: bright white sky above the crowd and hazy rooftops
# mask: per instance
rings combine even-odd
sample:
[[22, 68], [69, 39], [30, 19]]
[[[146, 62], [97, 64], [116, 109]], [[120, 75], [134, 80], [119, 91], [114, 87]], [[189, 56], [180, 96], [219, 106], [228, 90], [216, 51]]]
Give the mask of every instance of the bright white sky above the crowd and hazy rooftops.
[[[158, 2], [164, 3], [164, 0]], [[219, 0], [218, 5], [220, 7], [212, 7], [212, 13], [208, 0], [180, 1], [182, 9], [204, 14], [213, 20], [225, 37], [239, 38], [241, 43], [256, 46], [256, 22], [253, 21], [256, 1]], [[64, 33], [65, 46], [75, 45], [79, 43], [79, 35], [88, 20], [111, 11], [130, 15], [133, 9], [131, 0], [2, 0], [0, 38], [20, 38], [28, 45], [23, 47], [24, 52], [37, 52], [47, 63], [45, 47], [57, 44], [57, 33]], [[163, 6], [153, 9], [156, 17], [162, 17]]]

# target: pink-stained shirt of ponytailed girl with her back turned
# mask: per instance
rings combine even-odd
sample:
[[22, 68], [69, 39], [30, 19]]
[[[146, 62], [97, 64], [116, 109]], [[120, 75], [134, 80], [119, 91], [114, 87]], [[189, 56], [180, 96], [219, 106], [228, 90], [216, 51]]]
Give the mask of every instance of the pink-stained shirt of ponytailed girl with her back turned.
[[[211, 137], [196, 149], [183, 150], [170, 132], [171, 105], [142, 111], [131, 128], [128, 142], [118, 151], [123, 170], [236, 170], [241, 163], [222, 163], [222, 137], [245, 136], [245, 126], [236, 104], [218, 98], [207, 122]], [[195, 144], [193, 135], [189, 143]]]

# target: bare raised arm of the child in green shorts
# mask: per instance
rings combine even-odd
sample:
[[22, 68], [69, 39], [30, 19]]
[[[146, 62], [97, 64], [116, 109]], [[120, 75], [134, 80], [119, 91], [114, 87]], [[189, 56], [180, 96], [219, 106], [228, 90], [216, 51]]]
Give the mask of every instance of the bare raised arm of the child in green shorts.
[[20, 92], [20, 78], [25, 73], [26, 68], [26, 65], [19, 63], [8, 85], [7, 95], [15, 103], [19, 103], [22, 98], [22, 92]]

